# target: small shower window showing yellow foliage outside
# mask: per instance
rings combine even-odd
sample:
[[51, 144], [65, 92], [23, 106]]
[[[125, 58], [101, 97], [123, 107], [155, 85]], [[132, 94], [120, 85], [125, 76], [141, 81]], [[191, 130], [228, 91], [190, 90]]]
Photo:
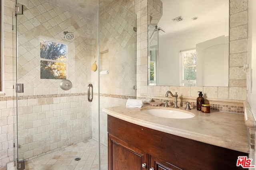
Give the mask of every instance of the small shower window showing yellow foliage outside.
[[67, 46], [61, 43], [41, 39], [40, 78], [66, 79]]

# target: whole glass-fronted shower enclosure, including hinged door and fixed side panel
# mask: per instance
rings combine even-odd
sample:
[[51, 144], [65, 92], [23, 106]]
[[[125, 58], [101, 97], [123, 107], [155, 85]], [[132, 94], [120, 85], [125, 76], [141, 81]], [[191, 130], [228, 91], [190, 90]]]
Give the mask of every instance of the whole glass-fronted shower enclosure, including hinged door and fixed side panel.
[[[23, 6], [16, 14], [18, 167], [44, 157], [51, 169], [79, 169], [74, 161], [107, 169], [107, 119], [100, 110], [136, 97], [136, 15], [112, 0], [16, 4]], [[84, 145], [93, 160], [81, 147], [68, 150]], [[63, 150], [72, 160], [53, 166]]]

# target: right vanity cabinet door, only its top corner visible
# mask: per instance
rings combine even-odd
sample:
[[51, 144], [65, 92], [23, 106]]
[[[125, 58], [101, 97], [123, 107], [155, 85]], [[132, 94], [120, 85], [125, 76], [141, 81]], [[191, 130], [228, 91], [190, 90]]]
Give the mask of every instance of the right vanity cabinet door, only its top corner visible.
[[151, 168], [150, 170], [182, 170], [172, 165], [171, 163], [161, 160], [159, 158], [156, 158], [154, 156], [150, 155], [149, 157], [150, 157], [149, 168]]

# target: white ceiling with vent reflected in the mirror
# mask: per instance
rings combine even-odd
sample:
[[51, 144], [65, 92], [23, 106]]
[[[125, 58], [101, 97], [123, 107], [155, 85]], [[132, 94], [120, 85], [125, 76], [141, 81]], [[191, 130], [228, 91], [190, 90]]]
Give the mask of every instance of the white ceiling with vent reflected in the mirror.
[[[161, 0], [163, 16], [158, 23], [166, 34], [178, 34], [228, 21], [228, 0]], [[183, 20], [175, 23], [173, 18], [182, 16]], [[226, 16], [224, 18], [224, 16]], [[198, 20], [191, 20], [198, 17]]]

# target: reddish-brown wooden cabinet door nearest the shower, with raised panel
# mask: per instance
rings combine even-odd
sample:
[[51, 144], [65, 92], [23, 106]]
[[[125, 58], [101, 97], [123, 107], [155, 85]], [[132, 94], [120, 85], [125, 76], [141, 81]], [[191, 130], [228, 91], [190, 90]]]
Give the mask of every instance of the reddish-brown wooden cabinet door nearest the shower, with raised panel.
[[[145, 170], [146, 154], [127, 143], [108, 135], [109, 170]], [[145, 164], [144, 168], [142, 164]]]

